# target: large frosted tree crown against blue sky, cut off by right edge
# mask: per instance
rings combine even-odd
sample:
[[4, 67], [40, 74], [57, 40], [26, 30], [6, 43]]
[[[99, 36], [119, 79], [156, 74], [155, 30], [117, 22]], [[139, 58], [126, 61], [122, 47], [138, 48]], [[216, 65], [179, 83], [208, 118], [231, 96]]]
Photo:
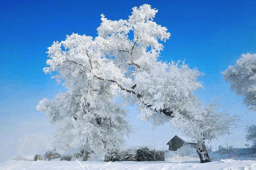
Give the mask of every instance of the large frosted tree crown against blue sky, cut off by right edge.
[[234, 66], [222, 72], [230, 89], [244, 97], [244, 105], [256, 111], [256, 54], [242, 54]]

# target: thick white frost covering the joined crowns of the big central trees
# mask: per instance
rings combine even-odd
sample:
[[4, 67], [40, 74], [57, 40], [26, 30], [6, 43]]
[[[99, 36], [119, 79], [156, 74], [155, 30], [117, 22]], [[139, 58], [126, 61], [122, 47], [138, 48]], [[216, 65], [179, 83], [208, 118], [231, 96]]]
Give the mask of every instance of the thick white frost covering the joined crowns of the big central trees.
[[[53, 78], [67, 92], [42, 100], [37, 109], [56, 126], [61, 148], [82, 145], [103, 154], [117, 149], [131, 131], [127, 105], [136, 106], [139, 117], [154, 127], [171, 122], [185, 134], [193, 132], [190, 137], [199, 142], [229, 133], [234, 119], [204, 106], [193, 94], [203, 87], [197, 81], [202, 73], [184, 62], [159, 60], [160, 41], [171, 34], [153, 21], [157, 10], [148, 4], [132, 10], [127, 20], [112, 21], [102, 14], [95, 38], [73, 33], [48, 48], [44, 72], [57, 73]], [[218, 126], [227, 129], [223, 132], [216, 128], [220, 119], [225, 119]]]

